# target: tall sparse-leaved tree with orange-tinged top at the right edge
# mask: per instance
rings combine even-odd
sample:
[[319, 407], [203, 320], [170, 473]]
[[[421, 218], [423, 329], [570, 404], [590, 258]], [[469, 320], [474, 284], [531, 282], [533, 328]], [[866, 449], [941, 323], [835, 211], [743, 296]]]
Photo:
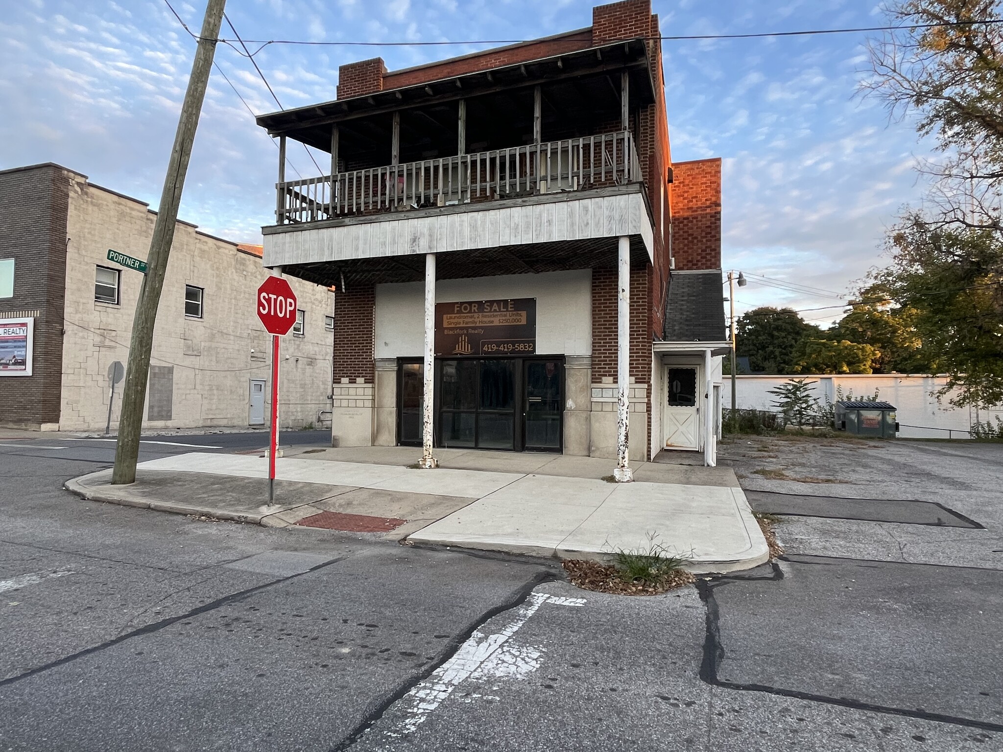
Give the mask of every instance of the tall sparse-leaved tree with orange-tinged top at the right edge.
[[925, 206], [888, 239], [872, 276], [902, 307], [955, 405], [1003, 401], [1003, 20], [999, 0], [900, 0], [871, 45], [865, 89], [917, 115], [944, 156], [922, 167]]

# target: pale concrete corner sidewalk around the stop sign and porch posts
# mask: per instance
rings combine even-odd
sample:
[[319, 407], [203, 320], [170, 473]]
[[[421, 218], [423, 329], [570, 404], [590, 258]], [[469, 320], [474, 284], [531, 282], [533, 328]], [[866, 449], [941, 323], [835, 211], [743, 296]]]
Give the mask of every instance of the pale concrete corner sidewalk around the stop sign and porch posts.
[[[268, 472], [261, 456], [191, 452], [140, 463], [130, 486], [108, 485], [105, 470], [67, 487], [95, 500], [117, 497], [119, 503], [163, 511], [383, 530], [413, 542], [534, 555], [604, 558], [615, 550], [647, 548], [654, 538], [689, 558], [694, 572], [730, 572], [768, 558], [729, 468], [644, 463], [636, 473], [640, 479], [621, 484], [597, 476], [610, 464], [589, 457], [443, 452], [443, 465], [480, 467], [421, 470], [402, 464], [413, 462], [413, 448], [367, 449], [366, 457], [391, 461], [344, 461], [358, 452], [337, 449], [278, 459], [275, 506], [261, 503]], [[533, 471], [529, 465], [535, 463]], [[365, 527], [367, 519], [382, 522]]]

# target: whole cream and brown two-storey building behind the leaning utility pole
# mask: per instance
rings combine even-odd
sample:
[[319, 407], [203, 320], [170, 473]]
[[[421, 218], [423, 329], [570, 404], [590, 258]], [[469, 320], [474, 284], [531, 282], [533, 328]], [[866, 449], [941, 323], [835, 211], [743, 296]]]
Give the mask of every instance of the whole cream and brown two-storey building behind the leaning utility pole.
[[[57, 164], [0, 171], [0, 425], [103, 431], [108, 367], [128, 361], [155, 213]], [[264, 425], [269, 335], [255, 314], [268, 272], [260, 246], [179, 222], [153, 334], [146, 429]], [[301, 428], [330, 410], [332, 295], [293, 280], [299, 333], [286, 338], [280, 421]], [[123, 384], [119, 384], [120, 389]], [[116, 394], [111, 429], [118, 422]]]

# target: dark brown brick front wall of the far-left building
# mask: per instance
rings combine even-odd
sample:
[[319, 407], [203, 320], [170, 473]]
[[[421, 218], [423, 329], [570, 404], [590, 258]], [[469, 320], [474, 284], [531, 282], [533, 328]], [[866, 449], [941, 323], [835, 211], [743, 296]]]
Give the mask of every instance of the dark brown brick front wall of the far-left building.
[[71, 175], [57, 164], [0, 172], [0, 259], [14, 260], [14, 297], [0, 299], [0, 319], [35, 320], [32, 375], [0, 376], [0, 425], [59, 422]]

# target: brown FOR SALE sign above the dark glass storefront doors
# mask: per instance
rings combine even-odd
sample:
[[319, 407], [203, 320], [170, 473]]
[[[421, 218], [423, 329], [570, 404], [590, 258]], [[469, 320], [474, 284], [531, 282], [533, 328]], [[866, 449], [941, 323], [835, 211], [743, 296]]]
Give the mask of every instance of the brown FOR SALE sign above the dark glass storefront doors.
[[535, 355], [537, 299], [460, 301], [435, 304], [435, 354]]

